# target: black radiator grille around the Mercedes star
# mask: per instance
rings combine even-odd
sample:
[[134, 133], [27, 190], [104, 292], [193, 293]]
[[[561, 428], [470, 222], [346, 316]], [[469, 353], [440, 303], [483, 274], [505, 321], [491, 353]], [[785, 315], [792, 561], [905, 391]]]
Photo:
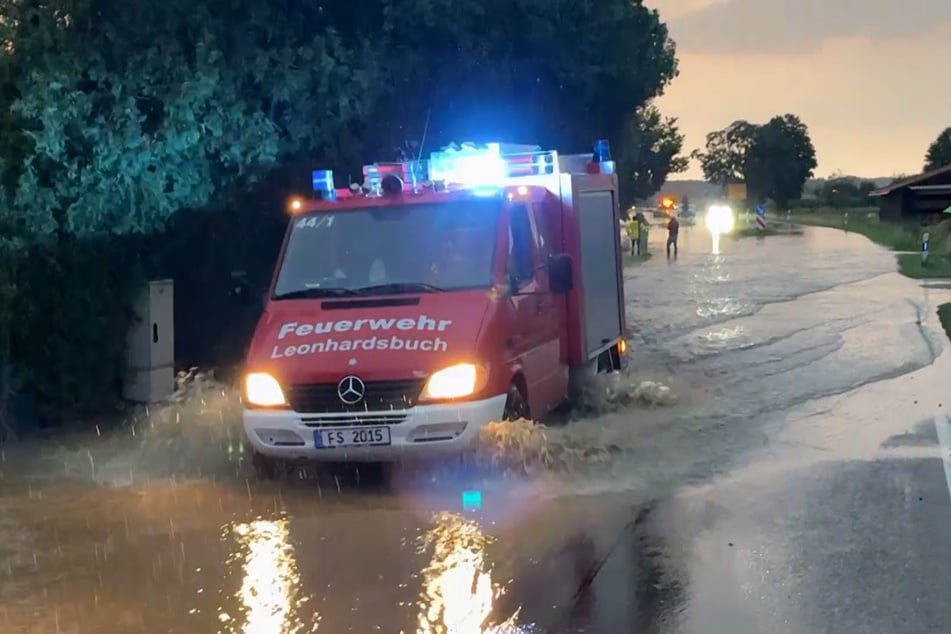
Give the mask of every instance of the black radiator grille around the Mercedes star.
[[347, 405], [340, 400], [337, 385], [337, 383], [291, 385], [286, 389], [287, 402], [291, 409], [302, 414], [375, 412], [413, 407], [423, 391], [422, 379], [366, 381], [363, 399], [354, 405]]

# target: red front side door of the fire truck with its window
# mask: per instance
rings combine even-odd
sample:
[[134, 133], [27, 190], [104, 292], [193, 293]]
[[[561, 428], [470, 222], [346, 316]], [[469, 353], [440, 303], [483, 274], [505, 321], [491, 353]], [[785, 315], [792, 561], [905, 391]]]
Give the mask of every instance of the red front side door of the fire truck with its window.
[[525, 373], [529, 407], [541, 416], [561, 402], [564, 392], [560, 397], [554, 394], [561, 352], [559, 322], [546, 311], [553, 298], [547, 289], [547, 276], [538, 271], [539, 241], [532, 215], [524, 203], [508, 209], [506, 272], [512, 285], [509, 299], [515, 309], [512, 352]]

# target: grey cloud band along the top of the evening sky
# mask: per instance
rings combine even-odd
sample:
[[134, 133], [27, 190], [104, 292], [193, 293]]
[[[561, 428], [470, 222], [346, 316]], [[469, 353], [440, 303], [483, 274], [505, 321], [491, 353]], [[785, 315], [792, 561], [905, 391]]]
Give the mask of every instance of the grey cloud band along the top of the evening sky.
[[678, 50], [781, 54], [840, 38], [929, 36], [951, 24], [951, 0], [654, 0]]

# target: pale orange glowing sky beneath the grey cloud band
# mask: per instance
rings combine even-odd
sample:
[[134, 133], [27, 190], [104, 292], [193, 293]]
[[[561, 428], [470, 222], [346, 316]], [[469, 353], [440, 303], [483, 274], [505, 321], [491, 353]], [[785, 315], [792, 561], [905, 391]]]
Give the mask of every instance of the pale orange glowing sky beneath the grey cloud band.
[[[951, 85], [935, 81], [951, 59], [948, 33], [839, 38], [775, 56], [680, 58], [680, 76], [658, 106], [679, 118], [688, 150], [736, 119], [763, 122], [792, 112], [809, 126], [818, 174], [890, 176], [920, 170], [928, 144], [951, 125]], [[699, 168], [692, 165], [687, 176], [699, 176]]]

